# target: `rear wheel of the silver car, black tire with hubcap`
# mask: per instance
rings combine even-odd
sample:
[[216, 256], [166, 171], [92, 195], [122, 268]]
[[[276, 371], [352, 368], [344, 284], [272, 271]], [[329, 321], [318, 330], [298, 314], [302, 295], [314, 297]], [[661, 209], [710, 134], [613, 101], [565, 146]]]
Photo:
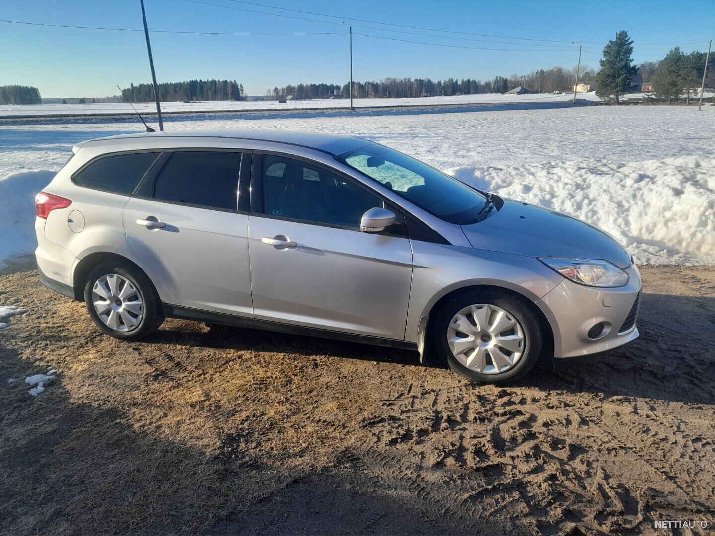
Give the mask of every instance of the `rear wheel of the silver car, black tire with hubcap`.
[[97, 327], [122, 341], [147, 337], [164, 322], [157, 289], [129, 262], [108, 261], [94, 268], [84, 286], [84, 302]]

